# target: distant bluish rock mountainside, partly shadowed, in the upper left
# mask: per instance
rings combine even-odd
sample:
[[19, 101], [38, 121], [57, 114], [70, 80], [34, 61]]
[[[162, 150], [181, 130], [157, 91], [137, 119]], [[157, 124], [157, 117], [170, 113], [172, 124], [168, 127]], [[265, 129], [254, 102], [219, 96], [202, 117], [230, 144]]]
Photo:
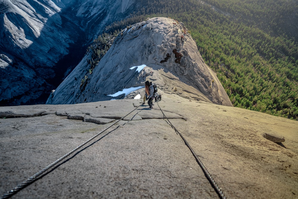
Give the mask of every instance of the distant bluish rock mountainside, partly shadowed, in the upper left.
[[135, 1], [1, 0], [0, 106], [45, 103], [104, 27]]

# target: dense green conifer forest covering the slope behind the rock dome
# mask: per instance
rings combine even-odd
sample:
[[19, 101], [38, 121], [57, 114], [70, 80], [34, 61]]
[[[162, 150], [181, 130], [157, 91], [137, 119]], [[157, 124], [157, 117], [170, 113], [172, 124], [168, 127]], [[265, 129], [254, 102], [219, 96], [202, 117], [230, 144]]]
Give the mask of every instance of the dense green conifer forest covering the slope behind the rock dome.
[[235, 107], [298, 120], [298, 3], [293, 0], [141, 1], [115, 33], [147, 17], [183, 22]]

